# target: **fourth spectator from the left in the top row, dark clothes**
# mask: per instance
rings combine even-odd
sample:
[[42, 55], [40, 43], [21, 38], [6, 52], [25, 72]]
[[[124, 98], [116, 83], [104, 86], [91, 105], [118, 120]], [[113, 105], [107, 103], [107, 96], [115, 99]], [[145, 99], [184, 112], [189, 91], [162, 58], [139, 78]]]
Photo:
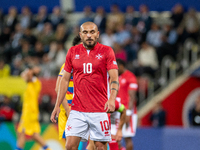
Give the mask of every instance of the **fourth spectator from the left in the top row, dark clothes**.
[[65, 19], [63, 15], [61, 14], [61, 10], [59, 6], [55, 6], [53, 8], [53, 13], [50, 16], [50, 21], [51, 21], [54, 31], [56, 30], [58, 24], [65, 23]]

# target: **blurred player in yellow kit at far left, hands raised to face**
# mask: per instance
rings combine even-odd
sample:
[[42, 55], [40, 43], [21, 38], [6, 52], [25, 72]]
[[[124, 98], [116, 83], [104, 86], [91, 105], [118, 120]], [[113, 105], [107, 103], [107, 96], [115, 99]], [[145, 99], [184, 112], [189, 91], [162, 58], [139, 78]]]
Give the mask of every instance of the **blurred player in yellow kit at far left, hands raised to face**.
[[18, 141], [16, 150], [23, 150], [26, 142], [25, 135], [31, 136], [44, 150], [50, 150], [39, 134], [38, 98], [41, 91], [41, 82], [37, 78], [39, 72], [39, 67], [29, 67], [21, 74], [21, 77], [27, 82], [27, 87], [23, 97], [22, 116], [17, 129]]

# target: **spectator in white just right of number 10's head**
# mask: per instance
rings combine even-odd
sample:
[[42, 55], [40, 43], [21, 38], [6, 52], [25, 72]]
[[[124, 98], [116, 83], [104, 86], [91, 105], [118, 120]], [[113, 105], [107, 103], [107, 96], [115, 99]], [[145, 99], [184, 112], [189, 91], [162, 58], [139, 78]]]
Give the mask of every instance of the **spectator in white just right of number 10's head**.
[[100, 41], [103, 45], [113, 47], [115, 41], [113, 30], [106, 28], [106, 32], [101, 35]]

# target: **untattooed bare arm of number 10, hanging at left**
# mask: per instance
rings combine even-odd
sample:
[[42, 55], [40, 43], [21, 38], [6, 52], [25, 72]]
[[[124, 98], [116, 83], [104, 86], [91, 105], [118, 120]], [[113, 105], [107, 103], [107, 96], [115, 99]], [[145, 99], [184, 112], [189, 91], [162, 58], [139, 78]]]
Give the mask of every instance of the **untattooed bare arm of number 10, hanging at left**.
[[51, 121], [56, 123], [56, 117], [58, 117], [60, 113], [60, 105], [64, 100], [65, 94], [67, 93], [69, 81], [71, 78], [71, 73], [64, 71], [63, 77], [61, 78], [58, 94], [57, 94], [57, 100], [54, 107], [54, 110], [51, 114]]

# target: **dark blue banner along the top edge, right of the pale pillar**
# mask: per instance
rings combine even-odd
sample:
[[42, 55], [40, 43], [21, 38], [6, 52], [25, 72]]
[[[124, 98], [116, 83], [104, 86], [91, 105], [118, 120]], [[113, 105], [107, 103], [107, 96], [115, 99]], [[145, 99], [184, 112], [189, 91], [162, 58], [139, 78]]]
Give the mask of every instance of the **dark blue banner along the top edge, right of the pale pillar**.
[[85, 6], [91, 6], [92, 10], [95, 11], [98, 6], [103, 6], [109, 12], [112, 4], [118, 4], [122, 11], [125, 11], [128, 5], [132, 5], [136, 10], [139, 10], [141, 4], [146, 4], [149, 6], [150, 11], [171, 11], [176, 3], [181, 3], [185, 9], [194, 7], [200, 10], [199, 0], [75, 0], [75, 10], [83, 11]]

